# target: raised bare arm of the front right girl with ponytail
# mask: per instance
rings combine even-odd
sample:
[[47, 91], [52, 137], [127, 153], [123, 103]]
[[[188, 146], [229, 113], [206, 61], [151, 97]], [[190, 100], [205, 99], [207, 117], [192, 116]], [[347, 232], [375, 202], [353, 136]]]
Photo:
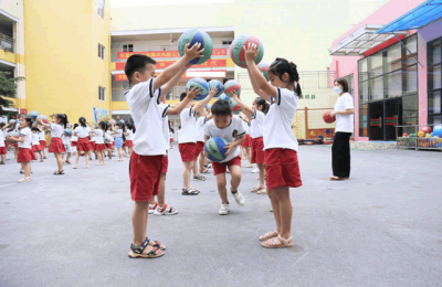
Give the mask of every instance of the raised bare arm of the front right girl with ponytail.
[[[249, 44], [248, 47], [244, 46], [244, 52], [245, 52], [245, 62], [248, 63], [248, 71], [249, 75], [253, 81], [255, 81], [255, 84], [257, 87], [265, 94], [260, 94], [262, 98], [265, 100], [270, 102], [270, 97], [276, 98], [276, 88], [272, 86], [271, 84], [265, 81], [265, 77], [263, 74], [261, 74], [260, 70], [253, 62], [256, 56], [257, 56], [257, 46], [255, 44]], [[253, 84], [253, 83], [252, 83]]]

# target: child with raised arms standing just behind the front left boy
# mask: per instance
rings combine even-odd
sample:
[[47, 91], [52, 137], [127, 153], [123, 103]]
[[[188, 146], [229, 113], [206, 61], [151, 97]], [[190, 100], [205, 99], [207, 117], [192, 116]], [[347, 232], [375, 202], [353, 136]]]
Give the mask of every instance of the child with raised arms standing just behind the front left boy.
[[[182, 171], [182, 195], [198, 195], [199, 190], [190, 187], [190, 173], [193, 170], [193, 180], [204, 181], [206, 178], [199, 174], [198, 171], [198, 156], [200, 148], [197, 146], [197, 120], [194, 119], [196, 113], [206, 108], [206, 105], [212, 99], [217, 89], [213, 88], [209, 95], [193, 107], [193, 102], [190, 102], [180, 114], [181, 130], [178, 135], [178, 147], [181, 155], [183, 171]], [[182, 93], [180, 100], [186, 98], [186, 93]]]

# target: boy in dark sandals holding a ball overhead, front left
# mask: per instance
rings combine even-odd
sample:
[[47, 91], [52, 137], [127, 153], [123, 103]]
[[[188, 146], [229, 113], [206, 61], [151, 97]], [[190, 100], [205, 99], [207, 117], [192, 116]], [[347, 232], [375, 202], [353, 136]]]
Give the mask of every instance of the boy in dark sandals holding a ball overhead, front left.
[[[135, 149], [130, 157], [130, 194], [135, 201], [133, 213], [134, 243], [129, 257], [156, 258], [162, 256], [165, 246], [146, 237], [149, 201], [159, 192], [162, 158], [166, 156], [161, 115], [158, 104], [162, 93], [169, 92], [178, 83], [188, 63], [201, 57], [200, 44], [185, 47], [185, 56], [165, 68], [155, 77], [156, 61], [145, 55], [131, 55], [125, 65], [125, 74], [131, 88], [125, 92], [130, 115], [137, 126], [134, 135]], [[155, 78], [154, 78], [155, 77]], [[167, 84], [166, 84], [167, 83]], [[165, 85], [166, 84], [166, 85]], [[161, 87], [165, 85], [164, 87]]]

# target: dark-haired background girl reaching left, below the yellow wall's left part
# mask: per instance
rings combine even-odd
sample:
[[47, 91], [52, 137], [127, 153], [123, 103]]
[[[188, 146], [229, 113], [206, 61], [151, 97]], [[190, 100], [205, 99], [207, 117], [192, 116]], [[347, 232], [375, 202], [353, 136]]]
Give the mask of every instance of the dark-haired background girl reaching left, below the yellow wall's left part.
[[53, 152], [56, 159], [59, 170], [54, 172], [55, 176], [64, 174], [63, 170], [63, 155], [65, 152], [63, 141], [61, 139], [64, 129], [67, 126], [66, 114], [56, 114], [53, 124], [44, 124], [42, 119], [38, 119], [40, 125], [51, 129], [51, 144], [49, 145], [48, 152]]

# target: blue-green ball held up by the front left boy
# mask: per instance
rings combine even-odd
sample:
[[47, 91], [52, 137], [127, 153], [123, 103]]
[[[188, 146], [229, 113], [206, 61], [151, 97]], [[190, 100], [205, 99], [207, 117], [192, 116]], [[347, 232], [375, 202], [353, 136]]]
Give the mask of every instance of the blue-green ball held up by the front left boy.
[[201, 44], [198, 51], [204, 49], [204, 52], [202, 52], [202, 57], [192, 59], [189, 62], [190, 64], [192, 65], [202, 64], [206, 61], [208, 61], [209, 57], [212, 55], [212, 50], [213, 50], [212, 39], [204, 31], [198, 29], [191, 29], [182, 33], [182, 35], [178, 40], [178, 52], [181, 56], [185, 55], [185, 47], [188, 43], [190, 43], [189, 49], [192, 47], [196, 43]]

